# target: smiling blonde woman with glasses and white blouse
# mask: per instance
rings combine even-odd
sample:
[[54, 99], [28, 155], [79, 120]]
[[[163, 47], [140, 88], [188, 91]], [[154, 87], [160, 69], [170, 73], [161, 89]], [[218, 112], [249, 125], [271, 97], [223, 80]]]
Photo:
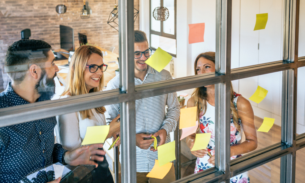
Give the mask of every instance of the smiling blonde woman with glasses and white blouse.
[[[74, 52], [70, 69], [67, 75], [67, 85], [61, 98], [86, 93], [102, 91], [103, 72], [107, 65], [103, 62], [102, 52], [90, 45], [83, 45]], [[65, 149], [71, 151], [81, 146], [88, 126], [106, 125], [104, 113], [105, 107], [88, 109], [70, 114], [57, 116], [56, 140]], [[110, 122], [110, 130], [107, 138], [120, 132], [119, 115]], [[120, 142], [117, 142], [116, 146]], [[94, 160], [95, 157], [91, 157]], [[103, 162], [97, 162], [99, 166], [91, 172], [92, 182], [111, 182], [113, 178], [108, 168], [106, 158]]]

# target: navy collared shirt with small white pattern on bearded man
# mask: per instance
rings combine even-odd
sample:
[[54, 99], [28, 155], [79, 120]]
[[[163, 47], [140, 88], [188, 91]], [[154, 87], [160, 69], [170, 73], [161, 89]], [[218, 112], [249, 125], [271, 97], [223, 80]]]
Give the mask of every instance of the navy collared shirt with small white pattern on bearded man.
[[[0, 93], [0, 108], [28, 103], [11, 83]], [[49, 117], [0, 128], [0, 182], [19, 182], [35, 170], [62, 161], [66, 150], [54, 144], [55, 125], [56, 118]]]

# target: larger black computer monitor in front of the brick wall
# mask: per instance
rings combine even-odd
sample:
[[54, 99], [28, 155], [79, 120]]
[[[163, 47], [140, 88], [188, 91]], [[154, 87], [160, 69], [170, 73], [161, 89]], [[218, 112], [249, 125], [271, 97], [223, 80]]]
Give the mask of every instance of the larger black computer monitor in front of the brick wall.
[[60, 31], [60, 48], [74, 52], [74, 30], [71, 27], [59, 25]]

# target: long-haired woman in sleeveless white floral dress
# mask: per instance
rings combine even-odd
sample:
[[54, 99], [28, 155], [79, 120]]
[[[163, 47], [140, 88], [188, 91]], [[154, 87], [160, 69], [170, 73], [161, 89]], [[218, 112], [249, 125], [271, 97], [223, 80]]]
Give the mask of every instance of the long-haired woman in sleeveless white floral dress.
[[[195, 74], [215, 72], [215, 52], [201, 53], [194, 64]], [[187, 102], [187, 107], [197, 106], [197, 133], [211, 133], [206, 149], [191, 151], [197, 157], [195, 173], [215, 166], [215, 85], [196, 88]], [[242, 133], [246, 141], [241, 142]], [[186, 138], [187, 145], [192, 149], [195, 135]], [[257, 135], [254, 125], [254, 114], [250, 102], [233, 91], [231, 84], [231, 160], [241, 154], [257, 148]], [[208, 152], [212, 157], [207, 156]], [[231, 183], [248, 183], [248, 172], [231, 178]]]

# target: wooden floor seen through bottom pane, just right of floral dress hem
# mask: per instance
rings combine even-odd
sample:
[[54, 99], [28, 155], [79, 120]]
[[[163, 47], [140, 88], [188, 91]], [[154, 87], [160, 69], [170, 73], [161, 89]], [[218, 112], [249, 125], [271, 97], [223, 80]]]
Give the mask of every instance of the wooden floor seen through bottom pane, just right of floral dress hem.
[[[263, 164], [249, 170], [250, 182], [255, 183], [279, 183], [280, 182], [281, 158]], [[245, 181], [247, 182], [247, 181]], [[238, 183], [238, 182], [237, 182]]]

